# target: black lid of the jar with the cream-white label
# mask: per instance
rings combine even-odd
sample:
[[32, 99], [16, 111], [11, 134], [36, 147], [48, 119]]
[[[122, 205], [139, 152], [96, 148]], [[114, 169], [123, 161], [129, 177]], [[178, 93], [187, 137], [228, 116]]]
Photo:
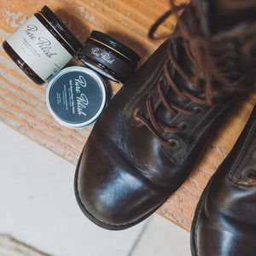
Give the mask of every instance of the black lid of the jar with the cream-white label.
[[67, 41], [67, 44], [71, 45], [75, 55], [77, 51], [82, 47], [79, 39], [73, 35], [67, 26], [64, 25], [64, 23], [46, 5], [44, 5], [40, 11], [38, 11], [38, 14], [42, 15], [43, 18], [49, 22], [49, 25], [52, 26], [56, 32], [61, 33], [61, 37]]

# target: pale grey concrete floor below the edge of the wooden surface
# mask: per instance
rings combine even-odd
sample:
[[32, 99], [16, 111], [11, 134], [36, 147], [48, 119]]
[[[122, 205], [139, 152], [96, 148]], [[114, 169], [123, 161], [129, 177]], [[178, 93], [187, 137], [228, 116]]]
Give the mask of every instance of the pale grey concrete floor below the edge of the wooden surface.
[[[75, 166], [2, 123], [0, 142], [0, 234], [55, 256], [190, 255], [189, 233], [158, 214], [124, 231], [90, 223], [73, 195]], [[31, 255], [1, 252], [0, 242], [0, 256]]]

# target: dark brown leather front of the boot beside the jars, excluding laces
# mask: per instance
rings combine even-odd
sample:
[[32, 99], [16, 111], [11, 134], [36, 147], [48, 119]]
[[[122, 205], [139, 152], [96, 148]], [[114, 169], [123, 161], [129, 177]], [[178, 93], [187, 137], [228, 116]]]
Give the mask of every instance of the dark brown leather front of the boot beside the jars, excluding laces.
[[[171, 46], [179, 65], [188, 73], [194, 72], [181, 41], [166, 40], [113, 97], [81, 154], [75, 176], [77, 201], [84, 214], [103, 228], [128, 228], [160, 207], [188, 177], [207, 139], [236, 102], [236, 95], [231, 93], [213, 96], [212, 106], [184, 100], [162, 79], [170, 101], [195, 110], [192, 115], [170, 113], [160, 101], [157, 85], [165, 77], [164, 64]], [[234, 50], [232, 53], [237, 54]], [[205, 92], [195, 89], [170, 63], [168, 71], [180, 89], [204, 98]], [[139, 109], [148, 119], [146, 101], [150, 96], [158, 120], [183, 125], [180, 132], [161, 134], [166, 142], [173, 139], [176, 143], [160, 143], [135, 117]]]

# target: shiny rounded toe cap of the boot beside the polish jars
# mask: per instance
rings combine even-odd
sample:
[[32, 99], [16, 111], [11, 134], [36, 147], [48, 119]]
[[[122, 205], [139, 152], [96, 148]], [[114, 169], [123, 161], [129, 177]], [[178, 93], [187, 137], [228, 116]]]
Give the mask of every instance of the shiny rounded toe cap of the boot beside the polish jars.
[[111, 147], [115, 146], [86, 143], [75, 189], [79, 207], [91, 221], [108, 230], [123, 230], [154, 212], [162, 193]]

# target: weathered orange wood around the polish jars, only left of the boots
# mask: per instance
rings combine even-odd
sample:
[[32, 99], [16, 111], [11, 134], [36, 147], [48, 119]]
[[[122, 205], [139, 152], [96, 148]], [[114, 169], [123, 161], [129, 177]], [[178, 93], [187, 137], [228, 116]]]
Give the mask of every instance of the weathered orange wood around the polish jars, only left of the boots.
[[[168, 0], [160, 1], [10, 1], [0, 3], [0, 42], [14, 32], [25, 20], [44, 4], [73, 31], [81, 42], [93, 29], [107, 32], [142, 55], [146, 60], [160, 42], [147, 38], [148, 28], [157, 17], [169, 8]], [[169, 20], [170, 27], [172, 21]], [[166, 24], [167, 24], [166, 23]], [[169, 32], [167, 25], [163, 32]], [[79, 61], [74, 61], [79, 63]], [[81, 63], [79, 63], [81, 64]], [[0, 48], [0, 112], [1, 120], [15, 130], [73, 164], [77, 163], [81, 149], [92, 127], [79, 131], [67, 129], [55, 123], [45, 106], [46, 84], [38, 86], [26, 77], [19, 67]], [[120, 84], [111, 83], [115, 94]]]

